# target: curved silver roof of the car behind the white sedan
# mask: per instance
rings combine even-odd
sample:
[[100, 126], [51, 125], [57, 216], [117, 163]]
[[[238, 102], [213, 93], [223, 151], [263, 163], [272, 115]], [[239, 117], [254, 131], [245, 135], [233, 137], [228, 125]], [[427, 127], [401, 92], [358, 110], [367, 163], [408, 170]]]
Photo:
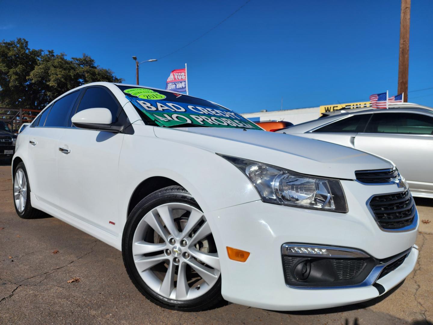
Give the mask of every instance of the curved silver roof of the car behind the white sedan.
[[[315, 129], [316, 127], [320, 127], [322, 125], [325, 125], [327, 123], [343, 119], [345, 117], [349, 117], [352, 115], [359, 115], [359, 114], [377, 114], [377, 113], [417, 113], [417, 114], [427, 114], [430, 116], [433, 116], [433, 109], [429, 107], [402, 107], [403, 105], [393, 105], [393, 107], [390, 107], [388, 109], [379, 108], [379, 109], [369, 109], [369, 110], [359, 110], [357, 112], [353, 112], [352, 110], [349, 110], [347, 112], [342, 112], [341, 114], [333, 114], [325, 117], [319, 117], [317, 120], [312, 120], [300, 124], [293, 125], [291, 127], [286, 127], [284, 129], [281, 129], [277, 132], [283, 133], [285, 130], [290, 129], [290, 133], [304, 133], [309, 130]], [[419, 105], [421, 106], [421, 105]]]

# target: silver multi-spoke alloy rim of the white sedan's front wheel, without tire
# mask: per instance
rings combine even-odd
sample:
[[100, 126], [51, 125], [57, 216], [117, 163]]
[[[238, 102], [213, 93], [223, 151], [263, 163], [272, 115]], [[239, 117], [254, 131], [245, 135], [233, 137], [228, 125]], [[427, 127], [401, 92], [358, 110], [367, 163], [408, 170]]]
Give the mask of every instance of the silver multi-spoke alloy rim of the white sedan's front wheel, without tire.
[[209, 223], [191, 205], [173, 202], [153, 208], [137, 225], [132, 243], [139, 275], [165, 298], [197, 298], [220, 277]]

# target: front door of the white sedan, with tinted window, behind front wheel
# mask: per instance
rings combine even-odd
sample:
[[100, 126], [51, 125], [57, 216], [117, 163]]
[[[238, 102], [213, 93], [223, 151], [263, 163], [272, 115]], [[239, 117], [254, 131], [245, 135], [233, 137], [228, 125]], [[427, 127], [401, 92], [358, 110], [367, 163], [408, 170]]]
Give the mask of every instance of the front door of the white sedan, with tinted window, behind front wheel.
[[[125, 117], [119, 102], [103, 86], [84, 88], [75, 113], [87, 108], [108, 108], [116, 119]], [[124, 133], [78, 129], [69, 118], [59, 141], [58, 159], [61, 210], [100, 230], [116, 234], [119, 219], [117, 175]]]

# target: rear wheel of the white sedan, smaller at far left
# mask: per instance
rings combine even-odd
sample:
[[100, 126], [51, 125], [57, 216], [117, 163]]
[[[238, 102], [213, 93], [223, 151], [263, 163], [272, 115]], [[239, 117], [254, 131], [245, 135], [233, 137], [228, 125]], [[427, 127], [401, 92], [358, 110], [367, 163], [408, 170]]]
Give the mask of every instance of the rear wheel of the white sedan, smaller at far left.
[[13, 173], [13, 202], [20, 218], [33, 219], [42, 216], [43, 212], [32, 207], [30, 203], [30, 184], [26, 166], [20, 162]]

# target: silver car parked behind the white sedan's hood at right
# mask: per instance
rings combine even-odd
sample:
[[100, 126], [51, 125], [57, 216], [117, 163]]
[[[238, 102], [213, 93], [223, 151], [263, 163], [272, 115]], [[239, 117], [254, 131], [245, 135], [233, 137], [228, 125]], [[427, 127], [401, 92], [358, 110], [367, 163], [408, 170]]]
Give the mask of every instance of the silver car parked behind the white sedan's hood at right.
[[[412, 195], [433, 198], [430, 107], [404, 103], [388, 109], [341, 112], [277, 132], [337, 143], [389, 159], [406, 179]], [[384, 171], [384, 177], [393, 173]], [[375, 179], [365, 182], [374, 183]]]

